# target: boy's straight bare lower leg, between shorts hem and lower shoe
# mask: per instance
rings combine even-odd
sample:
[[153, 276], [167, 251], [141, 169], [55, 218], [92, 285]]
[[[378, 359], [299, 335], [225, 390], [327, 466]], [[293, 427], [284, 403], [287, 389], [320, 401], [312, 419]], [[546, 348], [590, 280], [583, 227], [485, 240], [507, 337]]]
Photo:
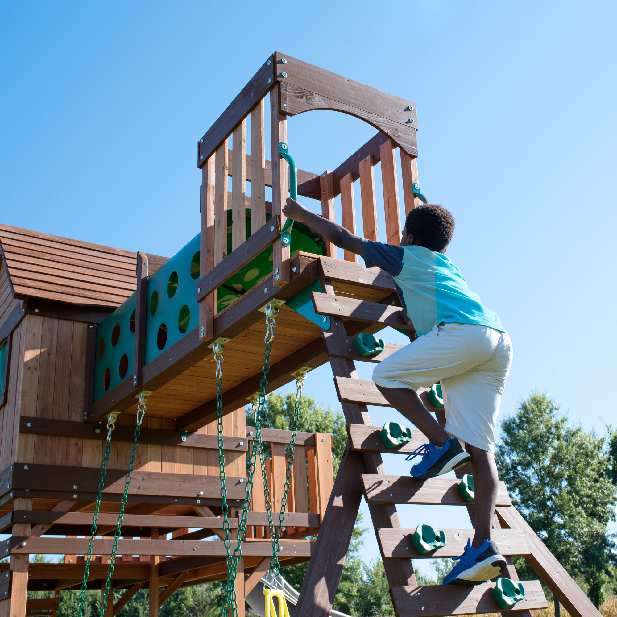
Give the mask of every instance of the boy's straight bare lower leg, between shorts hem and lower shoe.
[[466, 444], [466, 450], [471, 455], [473, 468], [473, 491], [474, 491], [474, 527], [476, 532], [471, 546], [479, 549], [482, 542], [491, 537], [493, 515], [497, 503], [497, 465], [491, 452], [481, 450], [473, 445]]

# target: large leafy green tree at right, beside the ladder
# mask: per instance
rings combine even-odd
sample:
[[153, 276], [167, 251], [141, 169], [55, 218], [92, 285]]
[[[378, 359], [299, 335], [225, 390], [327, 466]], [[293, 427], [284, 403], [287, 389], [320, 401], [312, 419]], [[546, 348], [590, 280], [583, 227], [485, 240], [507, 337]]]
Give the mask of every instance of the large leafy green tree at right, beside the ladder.
[[[532, 392], [503, 420], [495, 459], [516, 507], [598, 607], [616, 563], [607, 524], [615, 520], [617, 442], [611, 431], [607, 444], [558, 412], [554, 400]], [[523, 560], [516, 565], [532, 576]]]

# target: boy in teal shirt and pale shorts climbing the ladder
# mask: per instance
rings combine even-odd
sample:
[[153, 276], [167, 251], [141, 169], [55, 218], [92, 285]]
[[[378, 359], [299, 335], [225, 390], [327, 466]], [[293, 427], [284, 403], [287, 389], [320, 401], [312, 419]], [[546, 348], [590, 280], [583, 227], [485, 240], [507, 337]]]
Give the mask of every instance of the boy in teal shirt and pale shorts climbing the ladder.
[[[434, 478], [467, 463], [474, 476], [476, 531], [444, 584], [474, 585], [499, 576], [506, 560], [491, 540], [499, 481], [493, 452], [512, 345], [499, 317], [481, 304], [445, 256], [454, 231], [452, 214], [434, 204], [411, 210], [400, 246], [394, 246], [358, 238], [293, 199], [283, 212], [326, 241], [361, 255], [366, 267], [382, 268], [394, 278], [418, 338], [379, 363], [373, 381], [392, 407], [429, 439], [413, 453], [422, 457], [412, 467], [414, 478]], [[437, 381], [444, 394], [445, 427], [416, 393]]]

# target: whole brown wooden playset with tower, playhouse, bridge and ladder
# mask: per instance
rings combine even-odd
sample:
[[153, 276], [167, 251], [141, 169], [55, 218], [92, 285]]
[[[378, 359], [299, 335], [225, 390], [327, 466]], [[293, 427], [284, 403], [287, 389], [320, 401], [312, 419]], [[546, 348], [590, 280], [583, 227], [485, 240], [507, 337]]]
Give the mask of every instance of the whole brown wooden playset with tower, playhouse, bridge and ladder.
[[[296, 170], [288, 117], [317, 109], [354, 115], [378, 133], [334, 172]], [[266, 111], [272, 161], [265, 160]], [[291, 189], [320, 201], [334, 220], [340, 194], [342, 225], [376, 240], [373, 167], [381, 164], [380, 239], [398, 244], [395, 151], [408, 213], [422, 199], [417, 129], [413, 102], [276, 52], [199, 139], [201, 231], [171, 259], [0, 225], [0, 525], [8, 534], [0, 557], [10, 560], [0, 564], [0, 615], [55, 616], [62, 590], [87, 588], [101, 589], [102, 615], [112, 617], [147, 588], [156, 617], [179, 587], [228, 580], [230, 571], [237, 608], [226, 608], [244, 615], [244, 597], [273, 572], [274, 552], [281, 567], [310, 560], [295, 617], [325, 617], [363, 496], [397, 616], [509, 610], [528, 617], [547, 607], [539, 581], [524, 582], [523, 598], [515, 555], [570, 615], [599, 615], [503, 483], [493, 534], [508, 558], [503, 580], [416, 584], [411, 558], [459, 555], [469, 534], [438, 532], [442, 541], [423, 552], [412, 540], [426, 521], [403, 528], [396, 504], [468, 505], [472, 487], [386, 475], [382, 452], [408, 453], [425, 439], [414, 429], [411, 442], [386, 448], [366, 407], [386, 401], [357, 378], [354, 363], [379, 362], [400, 346], [386, 342], [379, 355], [366, 355], [354, 341], [386, 326], [413, 337], [413, 326], [400, 317], [391, 276], [353, 254], [336, 259], [336, 248], [313, 230], [290, 228], [281, 208]], [[329, 434], [259, 426], [265, 394], [294, 380], [300, 392], [310, 370], [326, 362], [349, 433], [334, 480]], [[255, 426], [245, 423], [249, 401]], [[35, 553], [62, 557], [29, 563]], [[521, 593], [504, 608], [494, 589], [507, 584]], [[28, 599], [36, 590], [51, 598]], [[113, 590], [123, 590], [115, 602]]]

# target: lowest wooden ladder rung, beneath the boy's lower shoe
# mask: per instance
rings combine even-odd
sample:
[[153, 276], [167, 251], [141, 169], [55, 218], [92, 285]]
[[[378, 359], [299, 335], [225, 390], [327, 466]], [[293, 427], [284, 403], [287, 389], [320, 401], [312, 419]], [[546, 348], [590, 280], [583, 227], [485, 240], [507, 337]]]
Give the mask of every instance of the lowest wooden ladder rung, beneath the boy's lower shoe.
[[[540, 581], [525, 581], [525, 599], [512, 612], [547, 608]], [[499, 613], [502, 609], [491, 593], [492, 582], [481, 585], [424, 585], [393, 587], [390, 590], [397, 617], [439, 617]]]

